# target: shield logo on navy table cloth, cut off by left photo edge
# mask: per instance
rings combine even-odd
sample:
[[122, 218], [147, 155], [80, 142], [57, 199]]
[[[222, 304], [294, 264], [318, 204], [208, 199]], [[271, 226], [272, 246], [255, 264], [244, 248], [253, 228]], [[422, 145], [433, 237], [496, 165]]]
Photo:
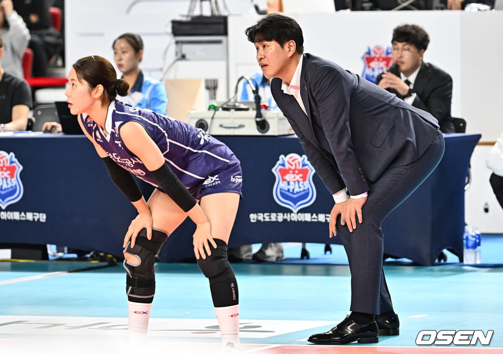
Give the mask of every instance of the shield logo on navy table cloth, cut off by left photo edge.
[[23, 184], [19, 173], [23, 166], [13, 152], [0, 151], [0, 207], [18, 202], [23, 197]]

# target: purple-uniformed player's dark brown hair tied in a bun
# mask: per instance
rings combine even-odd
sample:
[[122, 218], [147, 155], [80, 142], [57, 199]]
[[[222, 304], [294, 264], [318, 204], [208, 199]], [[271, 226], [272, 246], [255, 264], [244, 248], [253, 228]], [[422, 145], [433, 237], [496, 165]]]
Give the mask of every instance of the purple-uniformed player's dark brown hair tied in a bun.
[[[91, 55], [78, 59], [73, 68], [79, 79], [88, 82], [89, 88], [92, 90], [98, 85], [103, 85], [108, 102], [115, 100], [116, 96], [126, 96], [129, 90], [129, 84], [122, 77], [117, 79], [117, 73], [114, 67], [107, 59]], [[103, 95], [102, 102], [105, 100]]]

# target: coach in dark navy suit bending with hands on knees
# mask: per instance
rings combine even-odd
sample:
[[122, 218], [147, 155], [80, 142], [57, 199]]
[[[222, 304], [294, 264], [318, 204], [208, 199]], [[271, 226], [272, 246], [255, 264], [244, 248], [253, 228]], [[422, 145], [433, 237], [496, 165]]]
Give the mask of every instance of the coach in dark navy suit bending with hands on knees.
[[302, 30], [289, 17], [268, 15], [245, 34], [264, 75], [274, 77], [278, 107], [334, 197], [329, 236], [340, 236], [348, 255], [352, 312], [308, 340], [346, 344], [397, 335], [380, 226], [442, 158], [437, 120], [333, 62], [303, 54]]

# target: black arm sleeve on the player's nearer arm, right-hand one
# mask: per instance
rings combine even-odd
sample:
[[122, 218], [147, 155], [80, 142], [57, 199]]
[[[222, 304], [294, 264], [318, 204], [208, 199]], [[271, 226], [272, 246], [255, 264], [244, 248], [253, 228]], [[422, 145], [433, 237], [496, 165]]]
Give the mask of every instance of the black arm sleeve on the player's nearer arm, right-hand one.
[[188, 212], [196, 205], [196, 200], [189, 193], [187, 188], [177, 178], [177, 175], [171, 170], [167, 162], [155, 171], [150, 171], [159, 185], [183, 211]]

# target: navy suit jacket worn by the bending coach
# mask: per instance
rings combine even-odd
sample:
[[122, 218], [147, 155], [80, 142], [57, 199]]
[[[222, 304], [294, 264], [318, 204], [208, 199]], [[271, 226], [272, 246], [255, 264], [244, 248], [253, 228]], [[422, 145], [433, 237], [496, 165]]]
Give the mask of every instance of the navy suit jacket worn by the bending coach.
[[368, 180], [416, 160], [438, 135], [429, 113], [339, 65], [303, 54], [300, 93], [307, 115], [274, 78], [271, 92], [330, 193], [369, 190]]

